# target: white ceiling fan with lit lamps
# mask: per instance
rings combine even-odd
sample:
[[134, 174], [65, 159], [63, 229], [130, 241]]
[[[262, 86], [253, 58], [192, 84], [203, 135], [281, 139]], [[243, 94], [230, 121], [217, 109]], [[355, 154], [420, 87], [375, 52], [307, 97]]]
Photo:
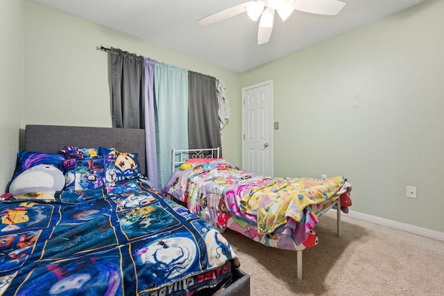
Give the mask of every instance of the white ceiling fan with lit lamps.
[[337, 15], [344, 6], [345, 2], [339, 0], [256, 0], [216, 12], [198, 22], [205, 26], [247, 12], [253, 21], [260, 17], [257, 44], [264, 44], [270, 40], [276, 10], [282, 21], [285, 21], [293, 10], [317, 15]]

